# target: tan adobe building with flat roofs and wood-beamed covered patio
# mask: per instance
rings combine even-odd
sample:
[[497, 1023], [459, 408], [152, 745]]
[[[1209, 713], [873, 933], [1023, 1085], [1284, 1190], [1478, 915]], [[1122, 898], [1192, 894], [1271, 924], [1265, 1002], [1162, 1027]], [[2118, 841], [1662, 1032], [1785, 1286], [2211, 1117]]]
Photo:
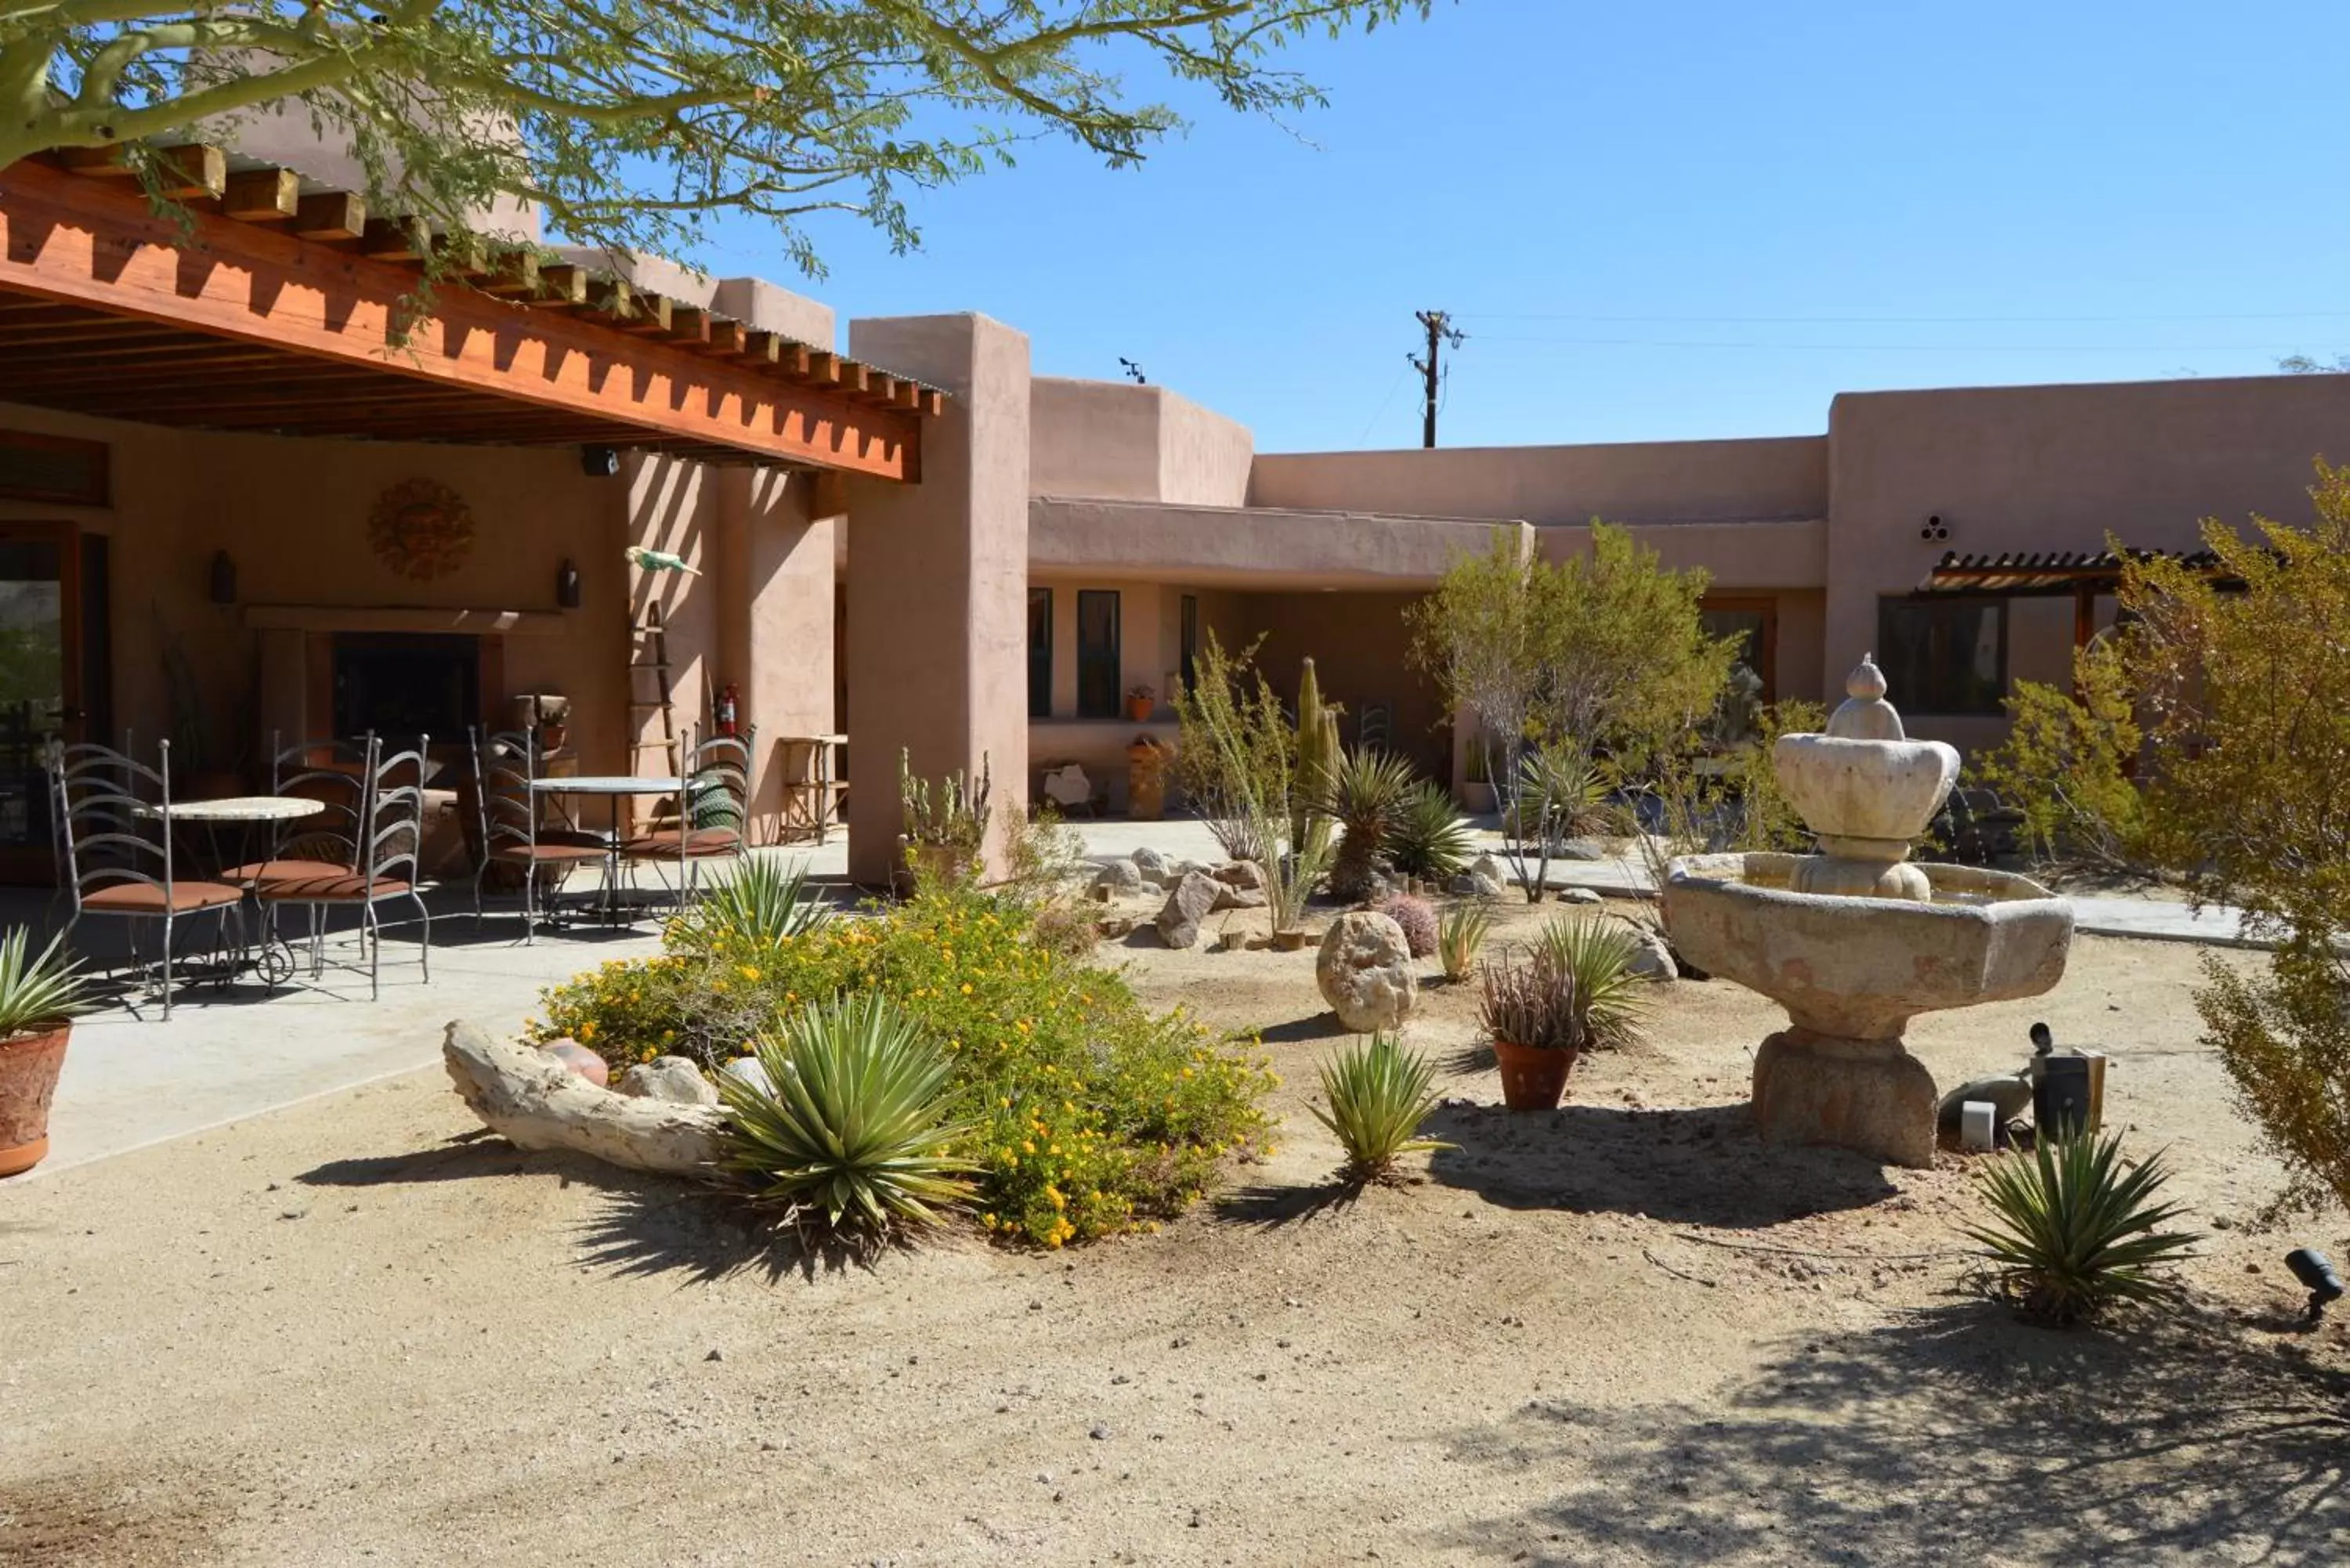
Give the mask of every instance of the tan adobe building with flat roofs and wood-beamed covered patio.
[[846, 792], [851, 870], [881, 882], [900, 755], [985, 759], [1006, 811], [1076, 762], [1121, 809], [1126, 748], [1173, 738], [1210, 630], [1262, 639], [1283, 689], [1314, 656], [1349, 741], [1457, 780], [1403, 607], [1495, 529], [1558, 557], [1593, 517], [1708, 569], [1765, 696], [1826, 698], [1873, 649], [1915, 733], [1979, 748], [2110, 599], [1946, 557], [2186, 550], [2209, 515], [2303, 520], [2310, 461], [2350, 456], [2350, 376], [1845, 395], [1786, 440], [1260, 454], [1173, 390], [1032, 376], [985, 315], [841, 324], [665, 266], [444, 256], [402, 336], [430, 237], [284, 165], [190, 150], [186, 179], [179, 247], [103, 158], [0, 169], [0, 875], [47, 870], [59, 733], [174, 736], [183, 773], [261, 785], [270, 736], [458, 755], [562, 693], [573, 764], [620, 773], [731, 693], [768, 837], [846, 733], [879, 785]]

